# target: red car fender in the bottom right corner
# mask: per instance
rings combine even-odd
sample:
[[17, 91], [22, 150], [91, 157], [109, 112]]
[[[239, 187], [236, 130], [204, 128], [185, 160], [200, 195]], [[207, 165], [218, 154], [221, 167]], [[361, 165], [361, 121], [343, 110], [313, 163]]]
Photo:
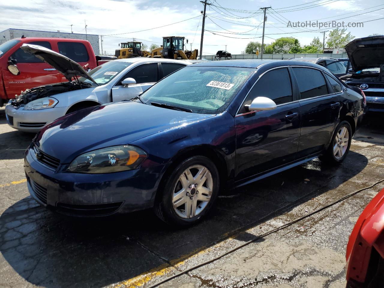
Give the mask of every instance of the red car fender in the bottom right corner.
[[349, 236], [347, 281], [365, 281], [372, 247], [384, 258], [384, 189], [369, 202]]

